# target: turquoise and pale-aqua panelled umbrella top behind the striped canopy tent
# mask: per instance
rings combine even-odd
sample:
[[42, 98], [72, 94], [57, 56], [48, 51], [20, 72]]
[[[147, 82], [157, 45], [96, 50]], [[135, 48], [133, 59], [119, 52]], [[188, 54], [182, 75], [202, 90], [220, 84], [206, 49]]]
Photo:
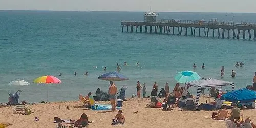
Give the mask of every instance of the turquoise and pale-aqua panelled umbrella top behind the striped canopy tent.
[[201, 77], [193, 71], [182, 71], [178, 72], [174, 79], [179, 82], [185, 84], [186, 82], [195, 81], [201, 79]]

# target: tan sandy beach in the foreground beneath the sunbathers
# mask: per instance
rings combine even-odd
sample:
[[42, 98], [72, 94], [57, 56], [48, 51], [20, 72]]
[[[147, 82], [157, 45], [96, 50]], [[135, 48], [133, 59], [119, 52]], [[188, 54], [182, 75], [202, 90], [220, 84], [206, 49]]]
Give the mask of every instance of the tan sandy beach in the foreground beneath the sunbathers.
[[[200, 99], [201, 102], [206, 100], [209, 98]], [[110, 102], [97, 103], [110, 104]], [[126, 121], [118, 127], [226, 127], [225, 121], [210, 118], [212, 112], [217, 111], [179, 111], [178, 107], [172, 111], [162, 111], [162, 108], [146, 108], [148, 103], [150, 103], [148, 98], [132, 98], [124, 101], [122, 110]], [[67, 110], [67, 105], [70, 110]], [[26, 108], [34, 112], [30, 115], [13, 114], [14, 107], [3, 107], [0, 108], [0, 122], [11, 123], [10, 127], [56, 127], [57, 123], [53, 123], [55, 116], [61, 119], [77, 120], [82, 113], [86, 113], [89, 120], [94, 121], [89, 124], [89, 127], [116, 127], [110, 124], [117, 112], [89, 110], [80, 108], [81, 105], [80, 101], [26, 105]], [[138, 113], [135, 114], [135, 111]], [[231, 110], [228, 111], [231, 112]], [[252, 122], [256, 121], [255, 110], [245, 110], [244, 116], [250, 117]], [[39, 121], [34, 121], [35, 117], [38, 117]]]

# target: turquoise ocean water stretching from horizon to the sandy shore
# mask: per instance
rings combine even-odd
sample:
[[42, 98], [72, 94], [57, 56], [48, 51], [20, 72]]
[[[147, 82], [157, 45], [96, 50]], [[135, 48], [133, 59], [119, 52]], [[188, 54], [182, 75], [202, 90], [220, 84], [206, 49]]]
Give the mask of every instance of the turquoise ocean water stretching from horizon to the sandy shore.
[[[158, 18], [227, 21], [233, 15], [235, 22], [256, 22], [255, 13], [160, 12]], [[50, 101], [76, 100], [78, 94], [95, 93], [97, 88], [107, 91], [109, 82], [97, 77], [105, 73], [102, 66], [108, 72], [115, 71], [116, 63], [121, 64], [121, 74], [130, 78], [116, 82], [119, 89], [129, 86], [126, 97], [136, 94], [138, 80], [147, 84], [148, 93], [154, 81], [159, 87], [169, 82], [172, 89], [174, 75], [183, 70], [221, 79], [222, 65], [223, 80], [234, 82], [236, 88], [252, 83], [255, 41], [121, 32], [122, 20], [143, 19], [143, 12], [0, 11], [0, 102], [7, 102], [8, 92], [17, 90], [23, 91], [20, 100], [28, 102], [46, 101], [47, 89]], [[129, 66], [122, 66], [124, 61]], [[237, 61], [245, 66], [234, 67]], [[205, 63], [206, 68], [193, 70], [193, 63], [199, 67]], [[232, 69], [237, 72], [234, 79], [229, 77]], [[86, 71], [89, 75], [83, 76]], [[78, 75], [74, 76], [74, 72]], [[47, 87], [33, 83], [39, 76], [59, 73], [63, 74], [58, 77], [62, 84]], [[15, 79], [31, 85], [8, 85]]]

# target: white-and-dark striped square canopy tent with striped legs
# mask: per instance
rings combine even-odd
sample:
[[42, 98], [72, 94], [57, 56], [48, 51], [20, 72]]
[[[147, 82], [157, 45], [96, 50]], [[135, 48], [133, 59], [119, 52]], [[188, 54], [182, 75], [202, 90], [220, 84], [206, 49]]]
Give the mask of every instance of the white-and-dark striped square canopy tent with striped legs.
[[196, 108], [198, 109], [198, 102], [199, 102], [199, 97], [201, 94], [201, 88], [206, 88], [206, 87], [218, 87], [218, 93], [219, 95], [222, 94], [222, 86], [232, 86], [232, 90], [234, 90], [234, 83], [228, 82], [228, 81], [222, 81], [218, 79], [212, 79], [212, 78], [206, 78], [206, 79], [201, 79], [197, 81], [190, 81], [185, 83], [185, 88], [187, 86], [194, 86], [197, 87], [197, 97], [196, 97]]

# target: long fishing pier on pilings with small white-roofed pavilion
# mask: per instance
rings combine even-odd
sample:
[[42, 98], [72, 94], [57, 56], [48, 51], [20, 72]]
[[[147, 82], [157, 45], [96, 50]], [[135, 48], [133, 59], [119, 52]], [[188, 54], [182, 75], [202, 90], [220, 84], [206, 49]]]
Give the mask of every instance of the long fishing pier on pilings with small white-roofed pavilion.
[[[204, 36], [209, 36], [209, 32], [212, 37], [221, 38], [240, 38], [240, 32], [243, 33], [243, 39], [251, 39], [251, 33], [253, 32], [253, 40], [256, 40], [256, 23], [239, 23], [234, 22], [219, 22], [217, 19], [211, 19], [210, 21], [204, 20], [174, 20], [174, 19], [162, 19], [156, 22], [156, 14], [153, 12], [147, 12], [144, 14], [143, 22], [130, 22], [123, 21], [122, 32], [126, 27], [126, 32], [144, 32], [144, 33], [159, 33], [159, 34], [173, 34], [173, 35], [191, 35], [202, 36], [201, 30]], [[138, 30], [139, 27], [139, 30]], [[189, 31], [190, 29], [190, 31]], [[172, 30], [172, 32], [171, 32]], [[185, 32], [182, 33], [182, 31]], [[197, 31], [196, 31], [197, 30]], [[226, 33], [226, 34], [225, 34]], [[248, 36], [246, 36], [248, 34]]]

